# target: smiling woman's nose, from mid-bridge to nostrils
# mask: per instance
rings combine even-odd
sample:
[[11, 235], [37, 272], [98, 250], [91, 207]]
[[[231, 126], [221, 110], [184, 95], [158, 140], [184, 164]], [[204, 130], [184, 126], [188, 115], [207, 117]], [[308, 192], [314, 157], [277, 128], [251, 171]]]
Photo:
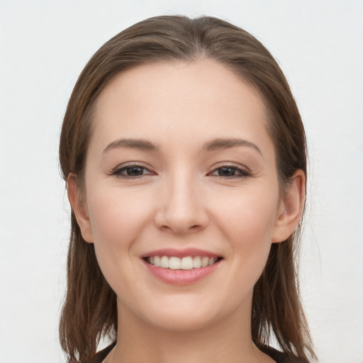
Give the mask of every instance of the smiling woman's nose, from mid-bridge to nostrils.
[[208, 225], [203, 193], [191, 178], [175, 178], [162, 186], [155, 223], [161, 230], [179, 235], [195, 233]]

